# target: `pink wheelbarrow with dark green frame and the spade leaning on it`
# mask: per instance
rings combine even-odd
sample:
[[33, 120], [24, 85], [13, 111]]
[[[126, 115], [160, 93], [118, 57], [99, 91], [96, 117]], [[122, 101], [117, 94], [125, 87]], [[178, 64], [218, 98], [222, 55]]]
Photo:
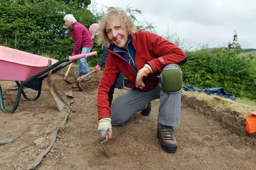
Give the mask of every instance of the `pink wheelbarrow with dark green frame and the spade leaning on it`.
[[[40, 55], [0, 46], [0, 80], [15, 81], [18, 86], [15, 104], [10, 110], [6, 110], [4, 107], [2, 88], [0, 86], [0, 106], [2, 111], [4, 111], [4, 113], [13, 113], [19, 105], [21, 94], [26, 98], [26, 100], [37, 100], [41, 94], [42, 81], [46, 77], [48, 77], [48, 87], [54, 97], [55, 105], [57, 105], [60, 111], [64, 106], [60, 106], [62, 108], [59, 108], [58, 106], [60, 105], [59, 103], [61, 103], [58, 100], [62, 100], [62, 98], [60, 98], [58, 92], [56, 92], [56, 87], [53, 86], [54, 84], [51, 84], [51, 74], [56, 73], [58, 70], [61, 70], [78, 59], [90, 57], [92, 55], [97, 55], [97, 52], [94, 51], [88, 54], [84, 53], [69, 56], [66, 59], [58, 61], [42, 57]], [[37, 96], [35, 98], [29, 98], [23, 90], [24, 87], [37, 90]]]

